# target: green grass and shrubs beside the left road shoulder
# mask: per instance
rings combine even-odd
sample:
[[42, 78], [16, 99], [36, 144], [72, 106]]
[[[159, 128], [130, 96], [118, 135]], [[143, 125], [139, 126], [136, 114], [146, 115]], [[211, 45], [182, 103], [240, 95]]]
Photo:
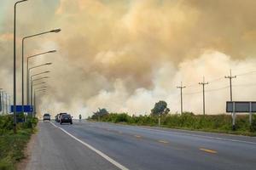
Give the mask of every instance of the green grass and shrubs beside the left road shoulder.
[[25, 158], [23, 153], [32, 133], [35, 132], [38, 119], [28, 118], [17, 124], [17, 133], [13, 132], [13, 116], [0, 116], [0, 169], [16, 169], [17, 162]]

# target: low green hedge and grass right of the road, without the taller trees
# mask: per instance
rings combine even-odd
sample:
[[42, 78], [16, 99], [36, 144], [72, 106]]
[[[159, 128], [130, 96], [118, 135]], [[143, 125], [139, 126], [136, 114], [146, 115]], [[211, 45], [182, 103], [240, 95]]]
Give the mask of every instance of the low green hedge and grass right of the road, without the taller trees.
[[[127, 113], [111, 113], [101, 117], [102, 122], [125, 122], [144, 126], [157, 126], [159, 116], [129, 116]], [[96, 119], [97, 120], [97, 119]], [[253, 116], [253, 124], [249, 126], [247, 115], [236, 116], [236, 133], [250, 134], [256, 132], [256, 116]], [[167, 114], [161, 116], [161, 126], [171, 128], [184, 128], [190, 130], [203, 130], [211, 132], [232, 132], [232, 117], [230, 115], [194, 115], [187, 112], [183, 115]]]

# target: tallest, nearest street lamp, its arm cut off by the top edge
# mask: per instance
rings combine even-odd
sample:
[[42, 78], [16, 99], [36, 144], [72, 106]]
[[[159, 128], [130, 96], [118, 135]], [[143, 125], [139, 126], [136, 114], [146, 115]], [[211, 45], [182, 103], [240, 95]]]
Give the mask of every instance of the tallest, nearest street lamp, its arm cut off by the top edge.
[[27, 0], [21, 0], [15, 3], [15, 14], [14, 14], [14, 133], [17, 133], [16, 129], [16, 7], [18, 3], [26, 2]]

